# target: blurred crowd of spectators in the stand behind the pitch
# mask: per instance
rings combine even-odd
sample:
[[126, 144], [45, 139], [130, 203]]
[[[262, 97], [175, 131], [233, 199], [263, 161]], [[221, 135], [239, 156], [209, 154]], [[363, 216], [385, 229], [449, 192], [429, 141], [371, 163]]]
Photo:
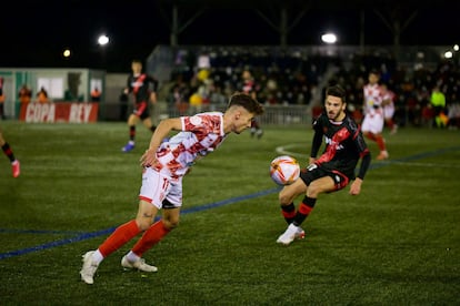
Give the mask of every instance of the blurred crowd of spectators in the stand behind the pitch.
[[[262, 124], [310, 124], [332, 83], [346, 88], [350, 110], [358, 114], [367, 74], [377, 68], [396, 93], [394, 120], [400, 126], [419, 126], [429, 121], [434, 84], [446, 94], [447, 113], [460, 118], [460, 55], [443, 59], [446, 49], [401, 47], [394, 54], [388, 47], [159, 47], [147, 69], [161, 81], [157, 118], [223, 110], [228, 96], [242, 86], [242, 71], [250, 69], [260, 86], [258, 100], [266, 105]], [[190, 103], [197, 95], [199, 105]], [[117, 108], [103, 106], [123, 120], [127, 106]]]

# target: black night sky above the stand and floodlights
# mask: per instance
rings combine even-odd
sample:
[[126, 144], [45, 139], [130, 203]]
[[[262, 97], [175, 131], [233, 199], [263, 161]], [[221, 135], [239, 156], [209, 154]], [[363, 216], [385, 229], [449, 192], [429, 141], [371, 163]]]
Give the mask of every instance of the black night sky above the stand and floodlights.
[[[234, 1], [241, 3], [239, 0]], [[247, 0], [244, 3], [251, 1]], [[168, 18], [171, 16], [169, 2], [171, 1], [11, 2], [8, 10], [4, 10], [3, 6], [0, 20], [2, 35], [0, 67], [78, 67], [126, 72], [130, 69], [131, 59], [146, 59], [156, 45], [169, 44], [170, 21]], [[201, 0], [201, 2], [206, 1]], [[324, 2], [328, 1], [324, 0], [321, 3]], [[290, 31], [288, 43], [320, 44], [320, 33], [333, 30], [339, 34], [339, 44], [359, 44], [360, 10], [358, 4], [360, 1], [352, 6], [349, 3], [353, 1], [330, 2], [334, 4], [311, 6], [301, 21]], [[348, 4], [338, 6], [336, 2]], [[452, 45], [460, 43], [459, 1], [431, 1], [436, 4], [424, 4], [420, 8], [410, 6], [409, 2], [418, 3], [416, 1], [407, 2], [402, 10], [403, 19], [408, 19], [416, 10], [418, 13], [402, 32], [401, 44]], [[254, 3], [257, 7], [257, 0]], [[270, 3], [270, 1], [263, 3]], [[194, 14], [198, 7], [180, 7], [180, 20], [186, 22]], [[254, 9], [241, 4], [237, 7], [218, 6], [207, 9], [179, 34], [179, 44], [277, 45], [279, 43], [278, 33]], [[259, 8], [273, 22], [278, 22], [277, 10], [268, 6]], [[379, 8], [379, 10], [383, 13], [388, 12], [388, 8]], [[391, 44], [392, 34], [373, 8], [368, 7], [364, 12], [366, 43]], [[294, 13], [291, 17], [293, 18]], [[97, 37], [102, 32], [111, 39], [104, 52], [97, 44]], [[73, 55], [70, 59], [66, 60], [61, 57], [63, 48], [72, 50]]]

